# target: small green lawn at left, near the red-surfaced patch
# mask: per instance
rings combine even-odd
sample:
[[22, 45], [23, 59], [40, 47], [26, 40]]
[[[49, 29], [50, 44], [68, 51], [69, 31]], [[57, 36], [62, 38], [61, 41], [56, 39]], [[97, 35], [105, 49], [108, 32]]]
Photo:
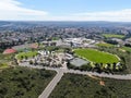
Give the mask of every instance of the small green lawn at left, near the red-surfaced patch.
[[23, 58], [25, 58], [25, 57], [32, 58], [32, 57], [37, 56], [37, 53], [38, 53], [37, 51], [20, 52], [20, 53], [16, 54], [16, 58], [17, 58], [19, 60], [21, 60], [22, 57], [23, 57]]

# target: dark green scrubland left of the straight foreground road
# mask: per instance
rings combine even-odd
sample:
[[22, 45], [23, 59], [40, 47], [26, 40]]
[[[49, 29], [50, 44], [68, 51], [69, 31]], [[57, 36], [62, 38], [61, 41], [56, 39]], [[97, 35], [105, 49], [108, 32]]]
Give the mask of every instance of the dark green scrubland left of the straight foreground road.
[[0, 98], [38, 98], [56, 72], [10, 68], [0, 72]]

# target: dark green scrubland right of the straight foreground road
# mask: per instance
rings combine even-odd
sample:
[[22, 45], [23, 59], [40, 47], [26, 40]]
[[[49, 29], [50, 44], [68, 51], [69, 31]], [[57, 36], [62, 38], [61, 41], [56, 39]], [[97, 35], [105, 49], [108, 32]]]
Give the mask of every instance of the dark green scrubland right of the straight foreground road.
[[66, 74], [49, 98], [131, 98], [131, 81], [100, 79]]

